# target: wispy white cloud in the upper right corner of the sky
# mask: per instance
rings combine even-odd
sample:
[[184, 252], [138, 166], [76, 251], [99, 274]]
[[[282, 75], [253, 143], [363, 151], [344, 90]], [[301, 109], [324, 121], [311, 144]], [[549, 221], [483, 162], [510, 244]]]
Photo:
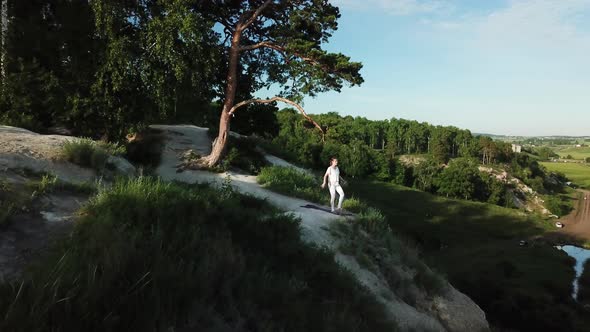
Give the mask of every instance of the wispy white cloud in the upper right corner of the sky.
[[439, 38], [487, 52], [590, 52], [590, 0], [511, 0], [488, 13], [422, 20]]

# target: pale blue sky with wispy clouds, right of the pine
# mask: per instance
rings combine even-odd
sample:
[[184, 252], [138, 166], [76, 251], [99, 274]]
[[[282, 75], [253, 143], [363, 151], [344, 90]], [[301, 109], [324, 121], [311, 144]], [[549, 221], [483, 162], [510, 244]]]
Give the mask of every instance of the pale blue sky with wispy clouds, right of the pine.
[[590, 135], [590, 0], [334, 0], [326, 48], [365, 83], [309, 113], [506, 135]]

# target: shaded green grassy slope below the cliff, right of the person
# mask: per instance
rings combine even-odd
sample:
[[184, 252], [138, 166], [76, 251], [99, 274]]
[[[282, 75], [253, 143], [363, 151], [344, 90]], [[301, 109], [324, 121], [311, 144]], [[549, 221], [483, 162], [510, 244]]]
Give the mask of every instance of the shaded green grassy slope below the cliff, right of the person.
[[355, 182], [348, 191], [417, 242], [429, 265], [482, 306], [492, 323], [522, 331], [584, 330], [581, 309], [569, 296], [573, 261], [548, 245], [518, 244], [551, 229], [548, 222], [382, 182]]

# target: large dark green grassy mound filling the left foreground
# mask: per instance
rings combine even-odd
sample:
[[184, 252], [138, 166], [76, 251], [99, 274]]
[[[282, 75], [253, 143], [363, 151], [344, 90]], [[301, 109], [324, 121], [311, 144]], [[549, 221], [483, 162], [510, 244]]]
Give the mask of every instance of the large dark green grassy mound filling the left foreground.
[[137, 178], [80, 215], [22, 280], [0, 284], [0, 330], [396, 330], [332, 253], [263, 200]]

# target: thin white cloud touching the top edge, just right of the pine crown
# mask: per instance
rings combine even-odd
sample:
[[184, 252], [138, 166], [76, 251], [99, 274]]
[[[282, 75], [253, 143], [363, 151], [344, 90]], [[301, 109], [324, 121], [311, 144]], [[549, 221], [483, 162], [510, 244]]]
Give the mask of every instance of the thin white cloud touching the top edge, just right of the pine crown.
[[378, 10], [391, 15], [414, 15], [448, 11], [452, 6], [446, 0], [334, 0], [341, 8]]

